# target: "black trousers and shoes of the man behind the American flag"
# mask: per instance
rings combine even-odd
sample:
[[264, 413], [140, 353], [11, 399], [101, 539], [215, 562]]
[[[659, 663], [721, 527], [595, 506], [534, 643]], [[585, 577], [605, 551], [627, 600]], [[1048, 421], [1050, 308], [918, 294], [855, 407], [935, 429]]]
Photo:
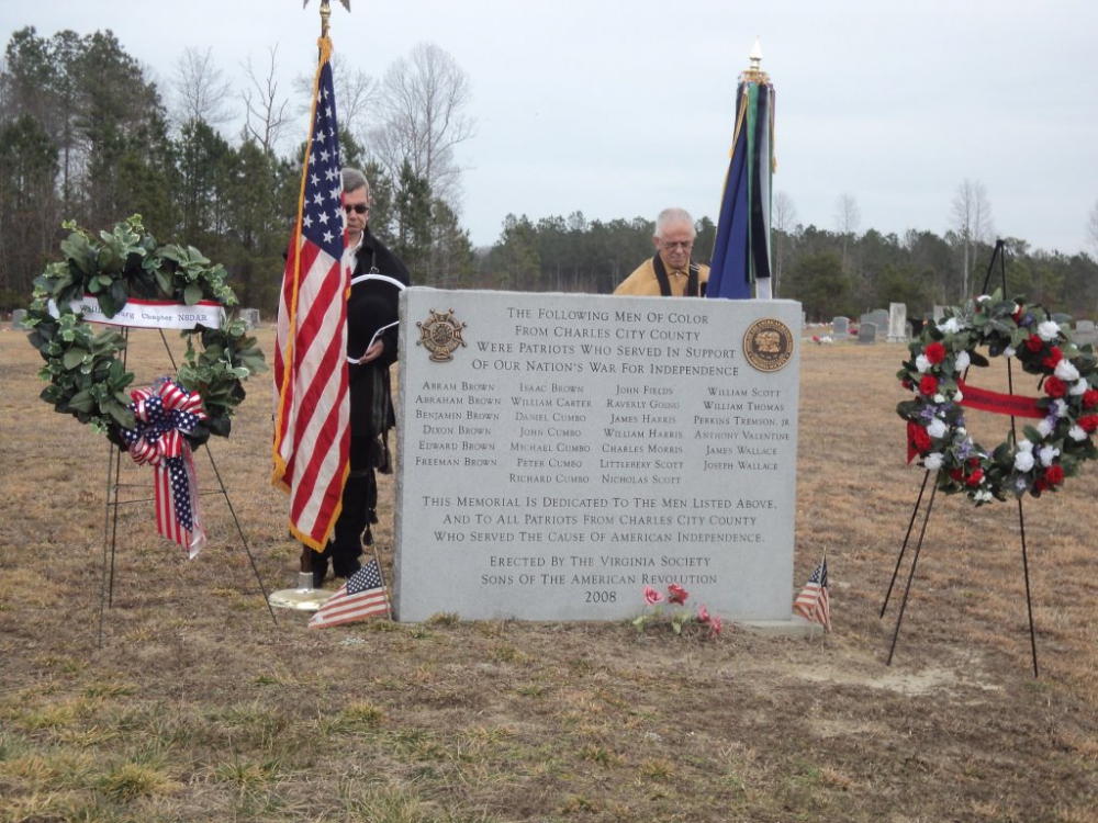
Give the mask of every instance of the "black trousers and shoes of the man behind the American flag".
[[343, 505], [336, 528], [324, 552], [312, 553], [313, 582], [327, 575], [328, 560], [336, 577], [350, 577], [359, 570], [362, 533], [378, 522], [378, 478], [373, 471], [374, 438], [351, 437], [350, 474], [344, 485]]

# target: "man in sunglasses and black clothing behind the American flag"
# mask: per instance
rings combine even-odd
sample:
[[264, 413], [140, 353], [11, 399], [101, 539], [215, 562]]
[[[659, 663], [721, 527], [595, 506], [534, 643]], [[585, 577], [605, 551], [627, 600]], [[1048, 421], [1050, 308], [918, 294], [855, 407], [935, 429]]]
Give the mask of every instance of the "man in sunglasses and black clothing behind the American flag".
[[350, 577], [361, 566], [362, 537], [373, 542], [378, 522], [376, 471], [392, 472], [389, 429], [395, 422], [389, 367], [396, 361], [397, 305], [408, 270], [370, 232], [370, 183], [358, 169], [343, 170], [347, 247], [351, 272], [347, 298], [347, 369], [350, 383], [350, 474], [335, 532], [323, 553], [312, 553], [313, 586], [328, 573]]

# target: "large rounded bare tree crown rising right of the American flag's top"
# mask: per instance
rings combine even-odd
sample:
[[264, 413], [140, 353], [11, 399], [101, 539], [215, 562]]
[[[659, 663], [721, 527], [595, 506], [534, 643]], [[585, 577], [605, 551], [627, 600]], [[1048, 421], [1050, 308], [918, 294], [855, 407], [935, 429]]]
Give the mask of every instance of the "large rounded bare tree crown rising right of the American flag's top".
[[371, 154], [393, 180], [407, 161], [433, 196], [452, 204], [461, 176], [453, 149], [473, 135], [474, 121], [464, 113], [471, 98], [469, 76], [457, 61], [434, 43], [421, 43], [385, 71]]

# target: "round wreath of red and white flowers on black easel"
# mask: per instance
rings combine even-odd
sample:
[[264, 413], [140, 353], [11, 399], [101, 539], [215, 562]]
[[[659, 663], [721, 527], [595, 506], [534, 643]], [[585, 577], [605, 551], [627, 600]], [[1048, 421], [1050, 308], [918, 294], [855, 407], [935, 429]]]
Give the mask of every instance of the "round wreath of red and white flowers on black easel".
[[[965, 494], [976, 505], [994, 499], [1040, 497], [1058, 491], [1066, 477], [1098, 456], [1098, 365], [1091, 346], [1076, 346], [1066, 315], [1052, 315], [1021, 298], [1004, 300], [996, 291], [964, 307], [945, 309], [909, 346], [911, 359], [897, 377], [915, 398], [896, 407], [908, 421], [909, 456], [937, 472], [938, 489]], [[975, 442], [965, 427], [963, 376], [970, 365], [985, 367], [991, 357], [1013, 358], [1029, 374], [1039, 375], [1044, 396], [1034, 406], [1038, 421], [1022, 427], [990, 451]]]

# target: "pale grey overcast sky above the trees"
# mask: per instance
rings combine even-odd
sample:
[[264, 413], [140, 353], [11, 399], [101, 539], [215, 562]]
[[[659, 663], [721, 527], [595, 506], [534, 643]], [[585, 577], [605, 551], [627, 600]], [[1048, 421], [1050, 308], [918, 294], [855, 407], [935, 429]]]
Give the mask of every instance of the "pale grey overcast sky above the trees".
[[[242, 64], [278, 45], [315, 68], [320, 0], [4, 0], [0, 32], [110, 29], [163, 84], [187, 47]], [[715, 218], [738, 74], [755, 35], [777, 92], [774, 189], [798, 222], [943, 234], [961, 182], [982, 182], [999, 236], [1095, 253], [1098, 4], [1094, 0], [333, 0], [332, 37], [380, 77], [421, 42], [469, 74], [462, 224], [477, 245], [508, 212], [537, 221]], [[339, 77], [336, 76], [336, 84]], [[307, 102], [307, 101], [303, 101]], [[242, 110], [243, 114], [243, 110]], [[293, 140], [305, 136], [298, 126]], [[235, 132], [235, 129], [232, 129]]]

